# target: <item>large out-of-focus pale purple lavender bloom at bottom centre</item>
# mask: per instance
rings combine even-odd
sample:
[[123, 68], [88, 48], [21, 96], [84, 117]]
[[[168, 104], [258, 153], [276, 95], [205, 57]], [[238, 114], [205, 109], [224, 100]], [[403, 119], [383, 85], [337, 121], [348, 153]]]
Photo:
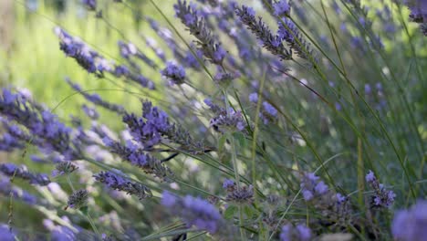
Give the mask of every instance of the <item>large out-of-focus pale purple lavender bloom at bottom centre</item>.
[[167, 207], [173, 215], [180, 216], [189, 227], [195, 225], [211, 234], [226, 229], [224, 219], [216, 207], [200, 197], [191, 195], [178, 197], [164, 191], [161, 196], [161, 204]]

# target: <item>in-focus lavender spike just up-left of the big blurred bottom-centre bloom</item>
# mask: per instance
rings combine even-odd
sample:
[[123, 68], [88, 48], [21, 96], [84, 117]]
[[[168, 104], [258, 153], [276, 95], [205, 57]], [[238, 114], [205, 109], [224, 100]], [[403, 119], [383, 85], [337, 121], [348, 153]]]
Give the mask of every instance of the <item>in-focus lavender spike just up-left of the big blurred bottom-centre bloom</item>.
[[104, 183], [109, 186], [109, 188], [126, 192], [126, 194], [136, 195], [140, 200], [152, 196], [151, 190], [145, 185], [130, 182], [130, 180], [123, 177], [124, 174], [120, 173], [118, 170], [115, 170], [114, 172], [100, 172], [95, 174], [94, 177], [100, 183]]

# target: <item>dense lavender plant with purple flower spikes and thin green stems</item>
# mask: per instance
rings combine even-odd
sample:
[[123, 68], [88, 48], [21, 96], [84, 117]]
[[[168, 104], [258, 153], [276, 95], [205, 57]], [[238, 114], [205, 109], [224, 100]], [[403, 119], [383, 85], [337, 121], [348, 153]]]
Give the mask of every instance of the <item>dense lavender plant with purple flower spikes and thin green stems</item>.
[[111, 89], [66, 78], [54, 108], [1, 92], [2, 238], [423, 240], [423, 1], [150, 0], [129, 39], [109, 11], [138, 7], [113, 2], [80, 6], [116, 55], [54, 30]]

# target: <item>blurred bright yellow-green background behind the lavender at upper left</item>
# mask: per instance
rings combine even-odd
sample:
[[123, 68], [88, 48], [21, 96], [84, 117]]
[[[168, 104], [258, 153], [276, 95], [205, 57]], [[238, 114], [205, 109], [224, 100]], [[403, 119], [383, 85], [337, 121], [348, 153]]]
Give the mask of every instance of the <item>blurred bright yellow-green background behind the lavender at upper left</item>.
[[[83, 89], [120, 89], [105, 79], [89, 75], [74, 59], [65, 57], [54, 33], [54, 28], [60, 26], [69, 34], [80, 37], [106, 58], [118, 63], [119, 40], [131, 41], [155, 60], [151, 49], [144, 49], [143, 38], [147, 32], [152, 31], [142, 18], [145, 12], [150, 12], [150, 16], [153, 16], [151, 5], [143, 0], [131, 1], [129, 5], [111, 4], [112, 1], [99, 1], [103, 17], [97, 18], [94, 12], [89, 12], [78, 0], [0, 1], [0, 85], [28, 89], [36, 100], [46, 103], [49, 108], [56, 107], [75, 92], [65, 83], [66, 77], [81, 84]], [[170, 9], [165, 9], [166, 12], [172, 11], [172, 5], [168, 5]], [[153, 35], [151, 33], [147, 36]], [[146, 68], [142, 71], [153, 80], [160, 79], [156, 70]], [[120, 84], [123, 85], [123, 82]], [[130, 110], [140, 107], [138, 98], [123, 91], [98, 92], [106, 100], [126, 104]], [[55, 112], [67, 121], [70, 113], [82, 114], [80, 104], [83, 102], [81, 96], [74, 95], [61, 103]], [[114, 126], [120, 121], [104, 122]]]

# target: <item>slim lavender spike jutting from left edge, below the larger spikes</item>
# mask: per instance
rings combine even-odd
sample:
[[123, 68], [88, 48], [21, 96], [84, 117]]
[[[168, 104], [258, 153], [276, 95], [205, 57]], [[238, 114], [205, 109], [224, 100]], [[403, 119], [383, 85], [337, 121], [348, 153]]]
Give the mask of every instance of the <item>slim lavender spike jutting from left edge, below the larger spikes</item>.
[[25, 165], [16, 166], [14, 163], [3, 163], [0, 164], [0, 172], [10, 177], [18, 177], [24, 180], [28, 180], [32, 184], [36, 185], [47, 185], [50, 183], [47, 174], [44, 173], [30, 173]]

